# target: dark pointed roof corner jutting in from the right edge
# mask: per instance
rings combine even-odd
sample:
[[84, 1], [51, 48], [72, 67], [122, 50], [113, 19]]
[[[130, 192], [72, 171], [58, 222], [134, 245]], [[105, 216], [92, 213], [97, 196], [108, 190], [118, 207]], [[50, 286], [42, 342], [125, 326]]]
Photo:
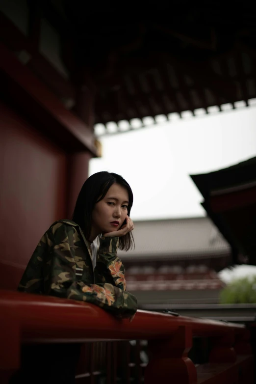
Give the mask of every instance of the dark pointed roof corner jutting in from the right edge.
[[256, 265], [256, 157], [191, 177], [207, 215], [230, 244], [232, 263]]

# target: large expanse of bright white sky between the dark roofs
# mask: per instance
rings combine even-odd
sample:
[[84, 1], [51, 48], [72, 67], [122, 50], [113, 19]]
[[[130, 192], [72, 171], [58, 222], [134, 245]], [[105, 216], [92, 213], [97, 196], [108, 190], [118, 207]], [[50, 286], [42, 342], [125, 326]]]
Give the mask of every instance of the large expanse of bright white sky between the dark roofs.
[[89, 174], [121, 174], [134, 195], [131, 218], [205, 216], [189, 174], [207, 173], [256, 156], [256, 107], [227, 110], [100, 137], [102, 158]]

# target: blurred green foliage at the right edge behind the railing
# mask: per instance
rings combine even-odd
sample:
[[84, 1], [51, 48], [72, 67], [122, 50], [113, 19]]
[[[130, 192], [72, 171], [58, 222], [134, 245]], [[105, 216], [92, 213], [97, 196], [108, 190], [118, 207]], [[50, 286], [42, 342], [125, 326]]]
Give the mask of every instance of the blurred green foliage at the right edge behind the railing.
[[256, 276], [231, 281], [220, 293], [221, 304], [256, 303]]

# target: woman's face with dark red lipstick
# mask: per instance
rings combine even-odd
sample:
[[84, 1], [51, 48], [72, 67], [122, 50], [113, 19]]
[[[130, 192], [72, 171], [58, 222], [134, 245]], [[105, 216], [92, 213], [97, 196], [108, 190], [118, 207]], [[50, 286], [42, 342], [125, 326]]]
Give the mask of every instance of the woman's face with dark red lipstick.
[[119, 184], [112, 184], [105, 197], [95, 204], [92, 212], [92, 234], [117, 231], [128, 214], [128, 192]]

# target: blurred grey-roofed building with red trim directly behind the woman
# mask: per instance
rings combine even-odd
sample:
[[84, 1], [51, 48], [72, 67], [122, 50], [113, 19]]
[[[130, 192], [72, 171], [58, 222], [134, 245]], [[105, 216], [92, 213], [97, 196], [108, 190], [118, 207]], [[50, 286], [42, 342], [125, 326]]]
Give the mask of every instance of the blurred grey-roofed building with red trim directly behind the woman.
[[208, 218], [135, 222], [135, 249], [120, 251], [127, 289], [139, 304], [219, 302], [225, 284], [218, 272], [230, 265], [231, 249]]

